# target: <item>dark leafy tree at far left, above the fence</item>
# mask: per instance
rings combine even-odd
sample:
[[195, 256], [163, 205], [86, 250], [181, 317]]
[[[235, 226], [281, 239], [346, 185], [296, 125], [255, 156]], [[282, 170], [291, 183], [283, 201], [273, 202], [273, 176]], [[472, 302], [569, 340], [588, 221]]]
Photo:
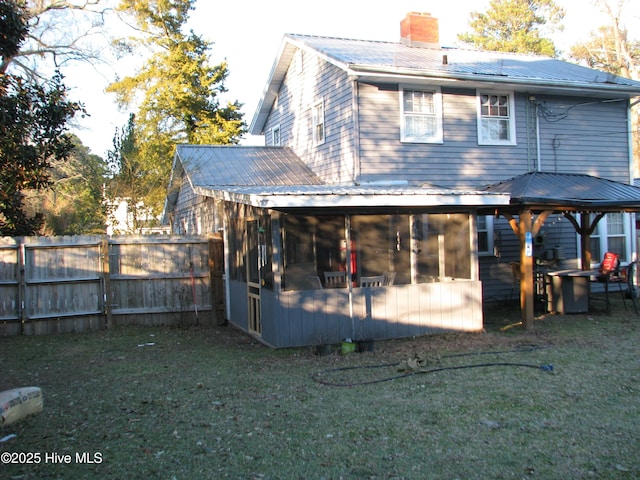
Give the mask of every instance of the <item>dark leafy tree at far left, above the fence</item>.
[[[2, 3], [0, 23], [5, 64], [28, 34], [23, 3]], [[67, 122], [82, 107], [66, 94], [59, 73], [40, 85], [0, 71], [0, 235], [31, 235], [43, 222], [41, 213], [25, 213], [25, 192], [47, 187], [51, 162], [73, 149]]]

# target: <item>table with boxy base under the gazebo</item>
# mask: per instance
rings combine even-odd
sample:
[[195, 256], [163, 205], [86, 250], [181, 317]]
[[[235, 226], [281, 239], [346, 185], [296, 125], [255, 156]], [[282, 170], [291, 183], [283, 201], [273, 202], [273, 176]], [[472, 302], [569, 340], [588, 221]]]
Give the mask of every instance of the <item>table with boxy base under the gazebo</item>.
[[586, 313], [589, 311], [589, 282], [598, 270], [555, 270], [547, 272], [547, 310], [557, 313]]

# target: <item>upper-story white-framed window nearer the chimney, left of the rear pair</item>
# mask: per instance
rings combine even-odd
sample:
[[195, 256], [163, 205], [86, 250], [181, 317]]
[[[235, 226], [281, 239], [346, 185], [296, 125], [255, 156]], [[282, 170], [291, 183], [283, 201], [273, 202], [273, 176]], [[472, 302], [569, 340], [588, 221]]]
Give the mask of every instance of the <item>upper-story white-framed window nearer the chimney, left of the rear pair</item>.
[[400, 89], [400, 136], [403, 142], [442, 143], [440, 89]]

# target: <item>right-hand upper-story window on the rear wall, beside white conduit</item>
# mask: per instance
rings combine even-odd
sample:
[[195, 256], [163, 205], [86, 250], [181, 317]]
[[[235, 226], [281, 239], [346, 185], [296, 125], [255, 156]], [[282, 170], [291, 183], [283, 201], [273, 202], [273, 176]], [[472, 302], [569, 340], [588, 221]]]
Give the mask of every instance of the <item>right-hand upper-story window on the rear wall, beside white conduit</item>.
[[513, 93], [478, 92], [478, 143], [515, 145]]

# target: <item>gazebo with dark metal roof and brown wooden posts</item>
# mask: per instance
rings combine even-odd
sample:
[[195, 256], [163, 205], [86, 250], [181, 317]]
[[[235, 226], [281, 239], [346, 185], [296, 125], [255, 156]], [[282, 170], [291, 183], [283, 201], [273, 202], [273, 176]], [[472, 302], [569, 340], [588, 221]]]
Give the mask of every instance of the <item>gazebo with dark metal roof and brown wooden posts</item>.
[[[607, 213], [640, 212], [640, 188], [583, 174], [531, 172], [486, 187], [508, 193], [508, 206], [492, 212], [505, 217], [520, 241], [520, 308], [525, 328], [533, 327], [532, 239], [554, 213], [563, 214], [580, 235], [582, 269], [591, 267], [589, 236]], [[595, 214], [591, 219], [590, 215]], [[517, 217], [517, 218], [516, 218]]]

